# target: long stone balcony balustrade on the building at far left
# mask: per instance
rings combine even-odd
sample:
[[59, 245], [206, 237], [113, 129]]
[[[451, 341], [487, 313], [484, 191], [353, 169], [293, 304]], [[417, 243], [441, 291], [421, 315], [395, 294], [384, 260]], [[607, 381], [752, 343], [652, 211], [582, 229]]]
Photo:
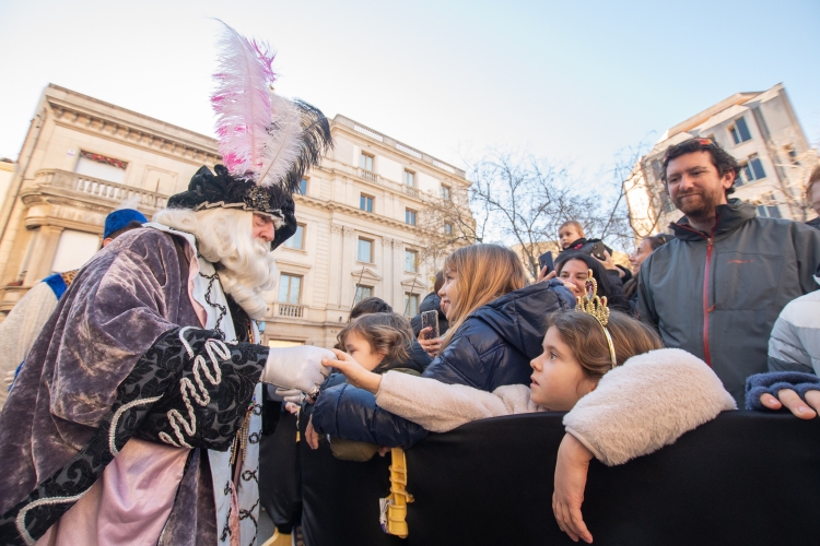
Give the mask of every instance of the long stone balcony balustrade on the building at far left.
[[34, 175], [34, 186], [72, 190], [117, 203], [137, 198], [137, 203], [148, 209], [164, 209], [168, 202], [168, 195], [162, 193], [60, 169], [38, 170]]

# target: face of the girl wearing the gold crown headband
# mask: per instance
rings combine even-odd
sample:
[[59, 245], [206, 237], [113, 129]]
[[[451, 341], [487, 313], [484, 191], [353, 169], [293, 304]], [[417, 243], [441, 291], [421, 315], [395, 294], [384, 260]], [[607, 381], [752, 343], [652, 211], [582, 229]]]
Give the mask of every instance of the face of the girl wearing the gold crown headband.
[[550, 412], [569, 412], [597, 384], [584, 376], [581, 364], [554, 327], [543, 337], [543, 354], [529, 365], [532, 402]]

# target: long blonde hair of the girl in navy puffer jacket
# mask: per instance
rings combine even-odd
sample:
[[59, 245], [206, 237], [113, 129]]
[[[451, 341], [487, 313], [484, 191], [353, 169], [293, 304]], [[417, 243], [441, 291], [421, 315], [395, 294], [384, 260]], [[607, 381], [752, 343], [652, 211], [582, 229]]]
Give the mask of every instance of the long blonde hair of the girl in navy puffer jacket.
[[527, 273], [518, 256], [500, 245], [470, 245], [444, 259], [444, 272], [455, 274], [458, 301], [452, 304], [444, 336], [446, 347], [458, 327], [484, 304], [527, 286]]

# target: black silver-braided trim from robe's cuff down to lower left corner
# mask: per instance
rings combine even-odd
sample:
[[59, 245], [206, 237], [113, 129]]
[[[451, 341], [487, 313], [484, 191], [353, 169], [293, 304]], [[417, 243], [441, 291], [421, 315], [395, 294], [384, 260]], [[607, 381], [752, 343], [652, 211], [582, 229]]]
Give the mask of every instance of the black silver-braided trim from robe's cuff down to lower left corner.
[[[221, 375], [215, 384], [195, 377], [203, 359], [219, 355], [208, 351], [209, 343], [227, 349], [226, 358], [215, 358]], [[260, 345], [224, 345], [210, 330], [174, 329], [162, 335], [117, 388], [117, 399], [91, 441], [0, 517], [0, 544], [34, 544], [94, 485], [129, 438], [175, 438], [172, 411], [185, 416], [192, 406], [196, 427], [185, 435], [188, 444], [226, 450], [245, 419], [267, 356], [268, 348]], [[206, 404], [186, 405], [186, 379], [206, 388]]]

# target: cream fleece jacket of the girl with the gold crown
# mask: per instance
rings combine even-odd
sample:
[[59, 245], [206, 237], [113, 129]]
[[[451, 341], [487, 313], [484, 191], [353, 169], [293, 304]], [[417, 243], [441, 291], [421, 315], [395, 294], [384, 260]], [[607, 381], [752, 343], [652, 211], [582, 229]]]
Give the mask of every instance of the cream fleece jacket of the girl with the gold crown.
[[[393, 371], [382, 377], [376, 403], [434, 432], [546, 411], [532, 403], [523, 384], [485, 392]], [[665, 348], [634, 356], [606, 373], [563, 423], [596, 459], [612, 466], [673, 443], [728, 410], [737, 410], [735, 400], [703, 360]]]

